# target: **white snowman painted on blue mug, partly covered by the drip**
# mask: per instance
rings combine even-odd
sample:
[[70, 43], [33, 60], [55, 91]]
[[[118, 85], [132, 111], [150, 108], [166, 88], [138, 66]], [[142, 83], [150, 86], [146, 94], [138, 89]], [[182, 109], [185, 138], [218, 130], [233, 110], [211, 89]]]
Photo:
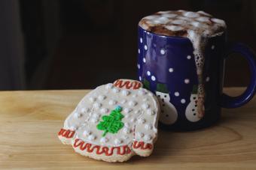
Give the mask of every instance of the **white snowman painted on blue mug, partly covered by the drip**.
[[186, 118], [188, 121], [197, 122], [200, 121], [200, 115], [197, 112], [197, 102], [198, 102], [198, 95], [191, 94], [190, 96], [190, 103], [187, 105], [187, 109], [185, 112]]

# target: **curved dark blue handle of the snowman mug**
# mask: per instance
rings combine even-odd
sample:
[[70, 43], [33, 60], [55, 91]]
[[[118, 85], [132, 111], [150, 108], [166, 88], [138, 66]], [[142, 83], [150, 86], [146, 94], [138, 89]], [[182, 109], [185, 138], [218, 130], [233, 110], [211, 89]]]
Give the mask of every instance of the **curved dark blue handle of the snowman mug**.
[[226, 55], [224, 55], [224, 59], [231, 53], [239, 53], [245, 57], [250, 68], [251, 77], [249, 85], [241, 95], [237, 97], [230, 97], [224, 93], [221, 95], [221, 107], [224, 108], [236, 108], [248, 103], [254, 96], [256, 90], [256, 61], [254, 52], [242, 43], [230, 43], [226, 47]]

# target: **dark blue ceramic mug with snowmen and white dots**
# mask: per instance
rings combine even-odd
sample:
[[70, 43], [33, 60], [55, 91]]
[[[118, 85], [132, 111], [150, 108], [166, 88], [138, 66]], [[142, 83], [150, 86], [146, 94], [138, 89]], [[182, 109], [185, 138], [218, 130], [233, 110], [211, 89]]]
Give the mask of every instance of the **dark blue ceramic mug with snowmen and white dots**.
[[[209, 38], [206, 44], [203, 68], [206, 91], [204, 115], [197, 112], [200, 97], [197, 95], [197, 68], [190, 40], [186, 37], [154, 34], [139, 26], [138, 44], [138, 77], [145, 88], [159, 98], [160, 127], [174, 130], [208, 127], [221, 117], [222, 107], [242, 106], [254, 96], [254, 54], [241, 43], [227, 43], [225, 34]], [[224, 59], [233, 52], [245, 57], [251, 70], [250, 83], [238, 97], [230, 97], [222, 92]]]

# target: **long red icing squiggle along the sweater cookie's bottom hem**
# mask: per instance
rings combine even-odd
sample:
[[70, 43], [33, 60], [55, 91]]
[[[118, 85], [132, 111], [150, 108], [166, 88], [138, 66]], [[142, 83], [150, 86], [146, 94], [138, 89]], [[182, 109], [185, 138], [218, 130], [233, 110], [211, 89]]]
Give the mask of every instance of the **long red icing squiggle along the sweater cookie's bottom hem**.
[[[81, 139], [75, 139], [75, 143], [73, 145], [75, 148], [80, 148], [81, 151], [86, 150], [89, 153], [92, 153], [94, 150], [96, 150], [96, 154], [105, 154], [106, 156], [111, 156], [113, 154], [114, 149], [117, 149], [117, 154], [124, 155], [124, 154], [130, 154], [131, 150], [127, 145], [123, 145], [120, 147], [105, 147], [105, 146], [99, 146], [99, 145], [92, 145], [90, 143], [85, 143]], [[123, 151], [121, 151], [123, 148]]]

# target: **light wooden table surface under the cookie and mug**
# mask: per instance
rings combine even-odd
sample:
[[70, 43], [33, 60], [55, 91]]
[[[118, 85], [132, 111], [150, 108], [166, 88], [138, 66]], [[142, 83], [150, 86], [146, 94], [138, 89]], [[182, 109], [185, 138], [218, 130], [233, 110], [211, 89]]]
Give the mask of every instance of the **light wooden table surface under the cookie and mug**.
[[[242, 88], [227, 91], [239, 94]], [[76, 154], [57, 137], [87, 92], [0, 92], [0, 169], [256, 169], [256, 97], [241, 108], [223, 109], [212, 127], [160, 130], [151, 157], [105, 163]]]

